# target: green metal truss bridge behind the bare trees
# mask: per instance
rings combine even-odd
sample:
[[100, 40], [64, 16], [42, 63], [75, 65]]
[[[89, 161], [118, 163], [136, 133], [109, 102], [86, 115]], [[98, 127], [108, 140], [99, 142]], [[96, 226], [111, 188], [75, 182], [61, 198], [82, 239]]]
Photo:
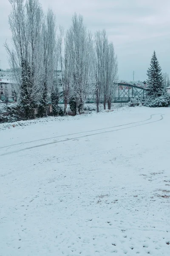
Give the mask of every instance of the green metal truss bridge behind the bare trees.
[[[147, 87], [133, 85], [128, 83], [118, 83], [116, 97], [112, 103], [127, 103], [132, 99], [138, 99], [139, 102], [145, 99]], [[95, 103], [95, 97], [88, 98], [86, 103]], [[101, 102], [102, 103], [102, 102]], [[59, 104], [64, 104], [64, 99], [59, 100]]]

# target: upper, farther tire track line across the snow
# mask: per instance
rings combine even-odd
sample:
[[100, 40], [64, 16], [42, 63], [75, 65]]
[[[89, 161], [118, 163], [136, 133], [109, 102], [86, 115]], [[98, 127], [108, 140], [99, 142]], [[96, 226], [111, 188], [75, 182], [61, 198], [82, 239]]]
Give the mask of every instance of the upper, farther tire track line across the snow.
[[150, 118], [142, 120], [142, 121], [138, 121], [138, 122], [130, 122], [130, 123], [123, 124], [123, 125], [116, 125], [116, 126], [100, 128], [100, 129], [95, 129], [95, 130], [90, 130], [90, 131], [80, 131], [80, 132], [76, 132], [76, 133], [72, 133], [72, 134], [65, 134], [65, 135], [60, 135], [60, 136], [55, 136], [55, 137], [50, 137], [50, 138], [45, 138], [45, 139], [32, 140], [32, 141], [28, 141], [28, 142], [24, 142], [24, 143], [16, 143], [16, 144], [0, 147], [0, 149], [1, 148], [11, 148], [13, 146], [24, 145], [24, 144], [28, 144], [28, 143], [34, 143], [34, 142], [38, 142], [38, 141], [43, 141], [43, 140], [52, 140], [52, 139], [57, 139], [57, 138], [71, 136], [71, 135], [76, 135], [76, 134], [83, 134], [83, 133], [87, 133], [87, 132], [102, 131], [102, 130], [107, 130], [107, 129], [116, 128], [116, 127], [121, 127], [121, 126], [125, 126], [125, 125], [132, 125], [132, 124], [136, 124], [136, 123], [140, 123], [140, 122], [146, 122], [146, 121], [149, 121], [150, 119], [152, 119], [152, 117], [155, 116], [155, 115], [161, 115], [161, 114], [152, 114], [152, 115], [150, 115]]

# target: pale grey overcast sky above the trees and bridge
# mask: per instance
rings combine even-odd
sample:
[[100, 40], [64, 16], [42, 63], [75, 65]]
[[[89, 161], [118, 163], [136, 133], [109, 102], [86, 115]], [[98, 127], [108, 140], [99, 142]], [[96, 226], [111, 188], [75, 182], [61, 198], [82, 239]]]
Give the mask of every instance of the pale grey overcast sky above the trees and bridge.
[[[44, 11], [52, 8], [57, 25], [65, 29], [74, 12], [83, 15], [93, 33], [106, 29], [119, 61], [119, 79], [145, 80], [153, 50], [163, 72], [170, 73], [170, 0], [40, 0]], [[8, 0], [0, 0], [0, 60], [8, 68], [3, 44], [11, 41]]]

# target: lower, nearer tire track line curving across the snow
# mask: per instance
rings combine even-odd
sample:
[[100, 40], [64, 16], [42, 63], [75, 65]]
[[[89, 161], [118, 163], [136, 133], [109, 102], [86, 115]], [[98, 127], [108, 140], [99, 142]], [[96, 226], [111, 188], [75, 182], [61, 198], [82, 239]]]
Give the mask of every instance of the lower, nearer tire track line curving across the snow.
[[[160, 119], [155, 120], [155, 121], [151, 121], [151, 122], [146, 122], [146, 121], [152, 119], [152, 116], [155, 116], [155, 115], [160, 115]], [[53, 141], [53, 142], [44, 143], [44, 144], [40, 144], [40, 145], [35, 145], [35, 146], [32, 146], [32, 147], [23, 148], [23, 149], [19, 149], [19, 150], [16, 150], [16, 151], [6, 152], [6, 153], [3, 153], [3, 154], [0, 154], [0, 156], [4, 156], [4, 155], [8, 155], [8, 154], [13, 154], [13, 153], [18, 153], [18, 152], [25, 151], [25, 150], [29, 150], [29, 149], [32, 149], [32, 148], [39, 148], [39, 147], [42, 147], [42, 146], [45, 146], [45, 145], [57, 144], [57, 143], [65, 142], [65, 141], [69, 141], [69, 140], [76, 140], [76, 139], [85, 138], [85, 137], [90, 137], [90, 136], [94, 136], [94, 135], [105, 134], [105, 133], [109, 133], [109, 132], [113, 132], [113, 131], [125, 130], [125, 129], [129, 129], [129, 128], [133, 128], [133, 127], [137, 127], [137, 126], [141, 126], [141, 125], [147, 125], [147, 124], [151, 124], [151, 123], [154, 123], [154, 122], [159, 122], [159, 121], [161, 121], [162, 119], [163, 119], [163, 115], [162, 115], [162, 114], [153, 114], [153, 115], [150, 116], [149, 119], [144, 120], [144, 121], [139, 121], [139, 122], [146, 122], [146, 123], [142, 123], [142, 124], [138, 124], [138, 125], [131, 125], [131, 124], [139, 123], [139, 122], [133, 122], [133, 123], [130, 123], [130, 124], [117, 125], [117, 126], [114, 126], [114, 128], [120, 127], [120, 126], [125, 126], [125, 125], [131, 125], [131, 126], [129, 126], [129, 127], [124, 127], [124, 128], [119, 128], [119, 129], [111, 130], [111, 131], [102, 131], [102, 132], [99, 132], [99, 133], [86, 134], [86, 135], [79, 136], [79, 137], [67, 138], [67, 139], [65, 139], [65, 140], [58, 140], [58, 141]], [[113, 127], [111, 127], [111, 128], [113, 128]], [[97, 130], [94, 130], [94, 131], [99, 131], [99, 130], [104, 130], [104, 129], [107, 130], [107, 129], [110, 129], [110, 128], [102, 128], [102, 129], [97, 129]], [[91, 131], [86, 131], [86, 132], [91, 132]], [[83, 133], [83, 132], [80, 132], [80, 133]], [[80, 133], [76, 133], [76, 134], [80, 134]], [[84, 132], [84, 133], [85, 133], [85, 132]], [[75, 134], [62, 135], [62, 136], [58, 136], [58, 137], [55, 137], [55, 138], [66, 137], [66, 136], [71, 136], [71, 135], [75, 135]], [[31, 142], [30, 142], [30, 143], [31, 143]], [[8, 146], [8, 147], [9, 147], [9, 146]]]

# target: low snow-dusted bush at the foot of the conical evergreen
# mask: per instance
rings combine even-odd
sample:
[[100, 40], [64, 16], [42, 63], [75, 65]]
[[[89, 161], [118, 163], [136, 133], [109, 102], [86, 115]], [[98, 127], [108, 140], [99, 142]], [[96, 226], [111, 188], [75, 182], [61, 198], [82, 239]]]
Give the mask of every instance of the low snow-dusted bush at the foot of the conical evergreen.
[[153, 99], [148, 97], [144, 102], [144, 106], [150, 108], [160, 108], [160, 107], [169, 107], [170, 106], [170, 95], [165, 93], [164, 95]]

